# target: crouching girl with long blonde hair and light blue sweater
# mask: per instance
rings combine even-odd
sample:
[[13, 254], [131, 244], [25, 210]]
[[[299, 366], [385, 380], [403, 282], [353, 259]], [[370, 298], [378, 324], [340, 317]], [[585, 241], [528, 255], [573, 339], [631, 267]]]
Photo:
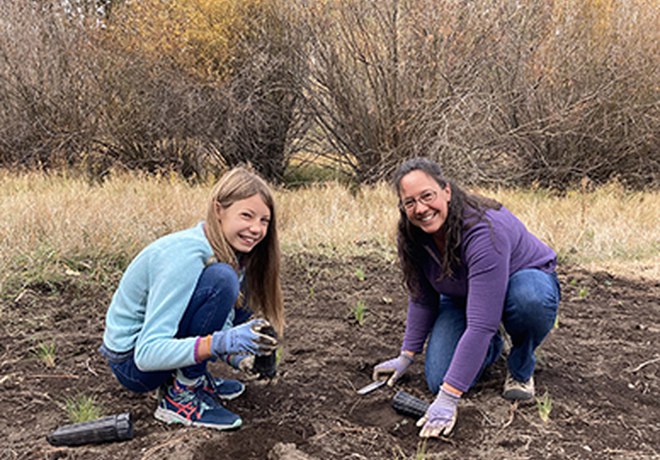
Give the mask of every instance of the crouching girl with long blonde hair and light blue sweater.
[[[246, 358], [277, 347], [260, 329], [283, 331], [279, 271], [272, 192], [254, 173], [233, 169], [215, 185], [206, 221], [156, 240], [130, 263], [100, 351], [127, 389], [160, 388], [157, 419], [238, 428], [241, 418], [220, 400], [245, 387], [211, 376], [206, 364], [220, 358], [245, 370]], [[248, 321], [252, 312], [260, 319]]]

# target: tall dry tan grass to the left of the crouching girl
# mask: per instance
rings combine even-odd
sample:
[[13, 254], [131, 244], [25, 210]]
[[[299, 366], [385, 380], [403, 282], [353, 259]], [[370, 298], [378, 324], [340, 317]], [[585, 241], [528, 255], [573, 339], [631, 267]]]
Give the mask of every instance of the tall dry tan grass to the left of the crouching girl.
[[124, 176], [102, 186], [42, 174], [0, 176], [3, 254], [131, 251], [199, 220], [205, 190], [178, 179]]

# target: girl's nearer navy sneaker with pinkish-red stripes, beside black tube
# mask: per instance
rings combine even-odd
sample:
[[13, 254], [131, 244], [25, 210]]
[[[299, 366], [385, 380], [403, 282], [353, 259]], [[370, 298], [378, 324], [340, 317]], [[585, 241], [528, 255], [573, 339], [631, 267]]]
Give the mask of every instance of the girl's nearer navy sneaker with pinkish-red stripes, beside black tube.
[[243, 421], [225, 409], [205, 389], [203, 382], [193, 387], [168, 384], [162, 392], [154, 417], [165, 423], [203, 426], [215, 430], [234, 430]]

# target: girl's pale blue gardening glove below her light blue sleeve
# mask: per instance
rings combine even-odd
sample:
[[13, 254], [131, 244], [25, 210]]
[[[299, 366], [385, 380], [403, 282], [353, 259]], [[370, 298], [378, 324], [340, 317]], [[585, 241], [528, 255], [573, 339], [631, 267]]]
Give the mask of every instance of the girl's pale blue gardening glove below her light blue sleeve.
[[261, 334], [259, 330], [268, 326], [268, 321], [253, 319], [224, 331], [217, 331], [211, 337], [211, 352], [221, 355], [267, 355], [277, 348], [277, 339]]

